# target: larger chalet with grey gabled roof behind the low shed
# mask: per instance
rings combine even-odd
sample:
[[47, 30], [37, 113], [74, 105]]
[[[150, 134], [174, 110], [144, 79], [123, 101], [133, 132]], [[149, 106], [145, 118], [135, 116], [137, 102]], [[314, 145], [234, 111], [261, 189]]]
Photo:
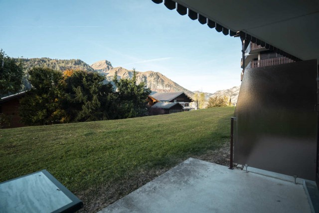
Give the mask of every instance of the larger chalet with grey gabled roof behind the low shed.
[[190, 102], [194, 101], [184, 92], [156, 92], [151, 96], [160, 102], [178, 102], [182, 107], [190, 107]]

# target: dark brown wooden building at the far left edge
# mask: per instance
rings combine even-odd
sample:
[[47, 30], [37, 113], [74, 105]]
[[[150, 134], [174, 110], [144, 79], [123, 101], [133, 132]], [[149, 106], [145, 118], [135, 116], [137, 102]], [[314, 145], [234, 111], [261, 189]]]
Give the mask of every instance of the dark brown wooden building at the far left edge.
[[25, 91], [0, 99], [0, 115], [2, 114], [4, 119], [0, 127], [15, 128], [25, 126], [22, 124], [21, 117], [19, 116], [19, 101], [24, 95]]

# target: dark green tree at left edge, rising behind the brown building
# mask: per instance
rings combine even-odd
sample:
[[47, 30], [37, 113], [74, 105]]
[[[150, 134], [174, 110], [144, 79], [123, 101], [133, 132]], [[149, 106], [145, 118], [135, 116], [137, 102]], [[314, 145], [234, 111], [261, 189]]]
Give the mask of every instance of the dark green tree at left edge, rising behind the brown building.
[[0, 96], [18, 92], [22, 86], [23, 61], [10, 58], [0, 50]]

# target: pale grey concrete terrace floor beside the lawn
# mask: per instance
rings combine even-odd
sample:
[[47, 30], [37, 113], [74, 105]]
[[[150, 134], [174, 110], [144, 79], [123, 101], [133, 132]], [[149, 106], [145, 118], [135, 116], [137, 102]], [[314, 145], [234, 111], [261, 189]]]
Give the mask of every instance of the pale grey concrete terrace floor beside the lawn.
[[256, 172], [189, 158], [99, 213], [312, 212], [302, 179]]

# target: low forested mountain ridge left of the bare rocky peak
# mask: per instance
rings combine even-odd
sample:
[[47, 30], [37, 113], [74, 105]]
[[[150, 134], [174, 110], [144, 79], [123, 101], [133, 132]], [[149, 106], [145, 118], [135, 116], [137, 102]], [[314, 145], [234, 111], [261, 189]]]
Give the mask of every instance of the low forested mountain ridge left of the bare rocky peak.
[[23, 61], [27, 70], [35, 66], [41, 66], [61, 71], [66, 69], [82, 69], [94, 72], [94, 69], [89, 64], [80, 59], [24, 58]]

